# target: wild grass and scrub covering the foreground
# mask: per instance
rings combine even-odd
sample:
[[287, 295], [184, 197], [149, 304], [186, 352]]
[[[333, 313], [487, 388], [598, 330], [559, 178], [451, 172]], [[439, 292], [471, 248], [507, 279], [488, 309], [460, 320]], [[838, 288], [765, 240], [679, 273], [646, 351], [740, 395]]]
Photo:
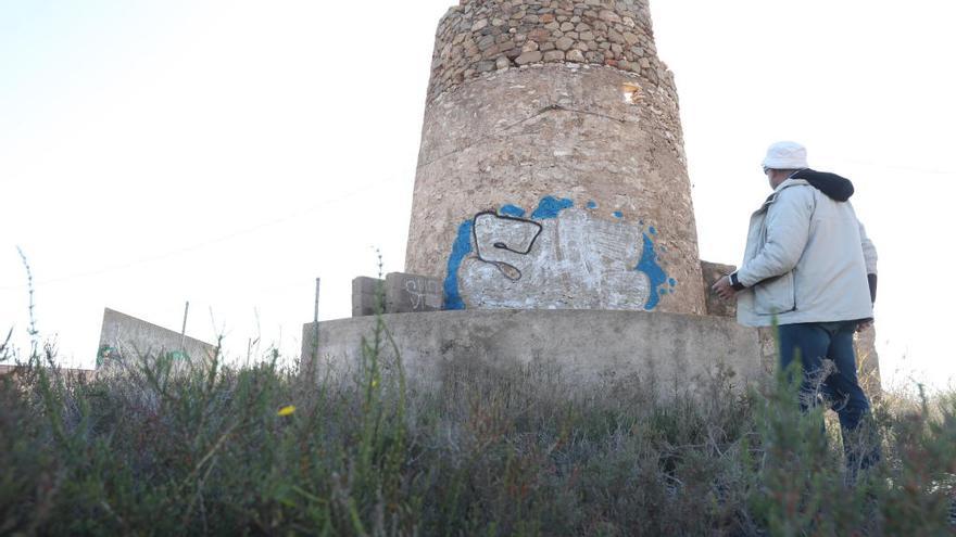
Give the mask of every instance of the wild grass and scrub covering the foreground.
[[[354, 374], [32, 351], [0, 379], [2, 535], [953, 535], [956, 395], [873, 412], [855, 486], [795, 387], [582, 391], [545, 365], [406, 385], [379, 319]], [[0, 358], [17, 358], [0, 346]], [[46, 362], [46, 363], [43, 363]]]

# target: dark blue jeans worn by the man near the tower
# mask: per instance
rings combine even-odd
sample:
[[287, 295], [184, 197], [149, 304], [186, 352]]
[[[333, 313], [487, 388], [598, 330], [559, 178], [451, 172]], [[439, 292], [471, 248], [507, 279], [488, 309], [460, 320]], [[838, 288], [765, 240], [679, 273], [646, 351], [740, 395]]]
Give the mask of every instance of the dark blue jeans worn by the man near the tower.
[[[815, 406], [818, 395], [840, 417], [846, 464], [854, 471], [871, 466], [880, 459], [879, 444], [865, 424], [870, 402], [856, 375], [853, 334], [857, 321], [805, 322], [780, 327], [780, 366], [785, 370], [797, 356], [803, 363], [801, 409]], [[823, 360], [832, 360], [828, 371]], [[863, 431], [866, 430], [866, 431]]]

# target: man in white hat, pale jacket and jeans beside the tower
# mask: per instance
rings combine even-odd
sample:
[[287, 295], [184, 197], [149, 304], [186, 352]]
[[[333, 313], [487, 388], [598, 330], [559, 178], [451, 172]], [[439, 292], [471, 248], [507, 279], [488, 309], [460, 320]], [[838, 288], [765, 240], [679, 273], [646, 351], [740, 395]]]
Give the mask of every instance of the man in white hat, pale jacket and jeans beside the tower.
[[[877, 252], [850, 203], [853, 183], [810, 169], [794, 142], [771, 145], [763, 166], [773, 192], [751, 216], [740, 269], [714, 291], [737, 299], [740, 323], [779, 325], [781, 368], [797, 356], [803, 362], [802, 408], [822, 395], [840, 417], [847, 465], [869, 466], [876, 449], [850, 449], [870, 408], [853, 334], [872, 322]], [[835, 371], [821, 372], [825, 359]]]

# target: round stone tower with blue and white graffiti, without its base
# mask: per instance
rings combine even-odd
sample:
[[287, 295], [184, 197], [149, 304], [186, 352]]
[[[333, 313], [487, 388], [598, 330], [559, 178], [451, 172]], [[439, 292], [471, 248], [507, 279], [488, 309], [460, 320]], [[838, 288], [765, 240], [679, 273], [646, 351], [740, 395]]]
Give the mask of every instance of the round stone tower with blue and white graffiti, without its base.
[[439, 24], [406, 254], [446, 309], [701, 315], [647, 0], [461, 0]]

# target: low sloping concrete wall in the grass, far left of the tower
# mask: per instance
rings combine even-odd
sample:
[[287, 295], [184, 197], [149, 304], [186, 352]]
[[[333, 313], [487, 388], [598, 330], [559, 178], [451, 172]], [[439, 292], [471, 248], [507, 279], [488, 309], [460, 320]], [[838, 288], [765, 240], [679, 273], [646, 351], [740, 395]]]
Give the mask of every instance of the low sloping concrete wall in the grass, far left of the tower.
[[109, 366], [118, 356], [137, 358], [173, 353], [184, 360], [206, 360], [215, 354], [215, 345], [164, 329], [106, 308], [103, 311], [103, 328], [97, 350], [97, 366]]

